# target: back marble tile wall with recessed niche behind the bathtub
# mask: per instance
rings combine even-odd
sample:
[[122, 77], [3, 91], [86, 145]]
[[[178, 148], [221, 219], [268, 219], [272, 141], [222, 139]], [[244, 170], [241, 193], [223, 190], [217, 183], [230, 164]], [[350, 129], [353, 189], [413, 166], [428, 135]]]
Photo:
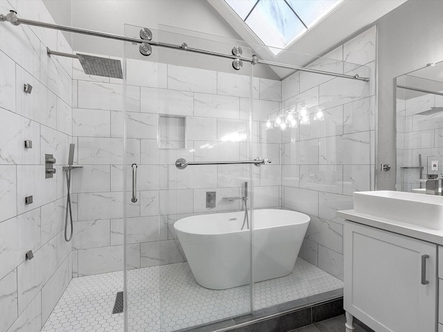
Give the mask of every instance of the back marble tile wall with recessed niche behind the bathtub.
[[[151, 61], [127, 61], [127, 163], [138, 164], [138, 201], [127, 208], [129, 268], [184, 261], [174, 221], [183, 215], [239, 210], [240, 201], [224, 197], [242, 196], [244, 181], [254, 181], [255, 207], [281, 208], [281, 133], [264, 130], [266, 116], [280, 107], [280, 80], [251, 80], [246, 69], [220, 73]], [[257, 110], [252, 136], [251, 82]], [[123, 270], [123, 80], [85, 75], [74, 60], [73, 86], [72, 134], [78, 164], [83, 166], [73, 175], [73, 273]], [[177, 158], [217, 161], [255, 156], [270, 158], [272, 165], [183, 170], [174, 165]], [[206, 192], [213, 191], [216, 207], [209, 209]]]

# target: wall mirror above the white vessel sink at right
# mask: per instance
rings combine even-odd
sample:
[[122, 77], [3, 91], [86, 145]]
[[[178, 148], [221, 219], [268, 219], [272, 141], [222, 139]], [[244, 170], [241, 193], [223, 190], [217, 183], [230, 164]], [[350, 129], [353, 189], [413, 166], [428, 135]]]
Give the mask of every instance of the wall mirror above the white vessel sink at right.
[[397, 190], [440, 194], [443, 62], [397, 77]]

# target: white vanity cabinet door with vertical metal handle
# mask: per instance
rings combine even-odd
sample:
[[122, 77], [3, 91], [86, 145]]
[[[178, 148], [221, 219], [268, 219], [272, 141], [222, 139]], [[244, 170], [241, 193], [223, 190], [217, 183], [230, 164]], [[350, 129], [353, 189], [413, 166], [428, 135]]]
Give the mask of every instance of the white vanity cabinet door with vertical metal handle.
[[436, 332], [437, 246], [350, 221], [344, 236], [345, 311], [377, 332]]

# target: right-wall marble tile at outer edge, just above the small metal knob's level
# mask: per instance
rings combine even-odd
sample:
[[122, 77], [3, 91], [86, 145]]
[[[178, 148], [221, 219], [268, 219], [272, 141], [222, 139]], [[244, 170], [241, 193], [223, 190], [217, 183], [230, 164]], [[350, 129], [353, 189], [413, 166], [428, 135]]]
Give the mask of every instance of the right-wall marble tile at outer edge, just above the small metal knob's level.
[[320, 164], [370, 164], [370, 132], [320, 138]]

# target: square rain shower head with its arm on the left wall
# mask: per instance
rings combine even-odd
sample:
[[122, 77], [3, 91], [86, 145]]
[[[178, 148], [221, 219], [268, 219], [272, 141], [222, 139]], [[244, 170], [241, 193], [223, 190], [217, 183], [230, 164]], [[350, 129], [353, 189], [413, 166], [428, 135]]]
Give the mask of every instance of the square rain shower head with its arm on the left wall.
[[60, 55], [61, 57], [72, 57], [78, 59], [83, 67], [84, 73], [87, 75], [97, 75], [112, 78], [123, 79], [122, 63], [120, 60], [109, 59], [107, 57], [95, 57], [93, 55], [85, 54], [69, 54], [57, 52], [46, 47], [46, 54]]

